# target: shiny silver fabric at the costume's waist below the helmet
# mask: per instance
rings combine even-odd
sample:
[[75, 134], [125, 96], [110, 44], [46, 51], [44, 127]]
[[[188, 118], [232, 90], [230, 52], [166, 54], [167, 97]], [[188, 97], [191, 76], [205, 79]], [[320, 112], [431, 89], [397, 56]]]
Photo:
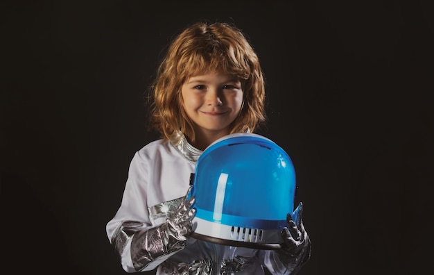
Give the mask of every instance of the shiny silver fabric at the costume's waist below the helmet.
[[192, 263], [174, 263], [166, 260], [162, 263], [162, 270], [171, 275], [231, 275], [247, 269], [255, 260], [255, 257], [243, 256], [221, 260], [219, 263], [214, 263], [208, 258], [194, 260]]

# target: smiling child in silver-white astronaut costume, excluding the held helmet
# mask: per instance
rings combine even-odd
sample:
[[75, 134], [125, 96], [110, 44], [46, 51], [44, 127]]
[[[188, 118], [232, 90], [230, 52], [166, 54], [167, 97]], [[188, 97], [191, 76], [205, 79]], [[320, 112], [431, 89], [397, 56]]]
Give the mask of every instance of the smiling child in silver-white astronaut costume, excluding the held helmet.
[[[285, 246], [248, 249], [189, 238], [194, 197], [190, 174], [209, 144], [265, 121], [257, 54], [231, 24], [199, 22], [173, 40], [157, 71], [151, 126], [162, 139], [135, 153], [107, 236], [126, 272], [157, 274], [295, 274], [310, 258], [302, 203], [281, 232]], [[294, 222], [293, 221], [297, 221]]]

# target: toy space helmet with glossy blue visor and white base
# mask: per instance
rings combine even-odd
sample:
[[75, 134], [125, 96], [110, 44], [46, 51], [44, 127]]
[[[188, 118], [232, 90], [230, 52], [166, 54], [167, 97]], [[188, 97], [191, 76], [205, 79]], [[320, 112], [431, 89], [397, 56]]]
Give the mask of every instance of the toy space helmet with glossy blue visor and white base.
[[254, 133], [227, 135], [202, 153], [188, 196], [195, 196], [192, 237], [254, 249], [279, 249], [293, 213], [295, 169], [288, 153]]

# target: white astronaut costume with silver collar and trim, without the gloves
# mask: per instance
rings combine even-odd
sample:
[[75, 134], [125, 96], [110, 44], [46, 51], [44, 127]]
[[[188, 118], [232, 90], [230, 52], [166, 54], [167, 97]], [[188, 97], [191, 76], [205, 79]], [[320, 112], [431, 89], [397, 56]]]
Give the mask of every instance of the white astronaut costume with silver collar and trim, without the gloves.
[[175, 252], [158, 251], [154, 245], [152, 257], [136, 255], [140, 251], [132, 249], [132, 243], [152, 242], [144, 233], [164, 224], [168, 213], [180, 204], [201, 154], [184, 137], [177, 145], [164, 140], [150, 142], [134, 154], [121, 206], [106, 226], [123, 269], [141, 272], [157, 267], [157, 275], [263, 275], [265, 266], [272, 274], [290, 274], [272, 250], [229, 247], [194, 238], [188, 238]]

